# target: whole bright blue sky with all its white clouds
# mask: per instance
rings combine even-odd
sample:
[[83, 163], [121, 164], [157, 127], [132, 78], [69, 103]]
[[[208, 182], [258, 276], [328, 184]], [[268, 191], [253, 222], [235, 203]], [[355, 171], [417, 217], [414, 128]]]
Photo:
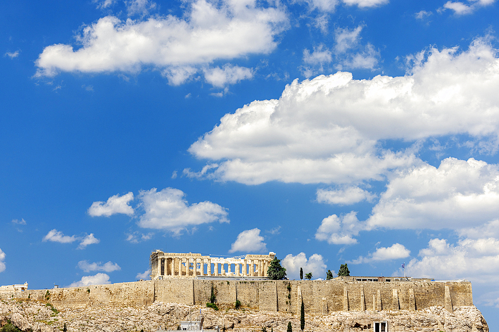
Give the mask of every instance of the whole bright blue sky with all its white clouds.
[[499, 288], [495, 0], [3, 1], [0, 283], [154, 249]]

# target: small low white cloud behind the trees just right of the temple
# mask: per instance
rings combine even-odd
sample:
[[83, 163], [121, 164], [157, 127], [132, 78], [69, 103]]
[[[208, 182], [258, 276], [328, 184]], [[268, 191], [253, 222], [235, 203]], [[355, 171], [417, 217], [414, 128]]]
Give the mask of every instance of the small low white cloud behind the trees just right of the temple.
[[312, 272], [314, 279], [326, 278], [327, 266], [324, 263], [324, 258], [319, 254], [313, 254], [308, 257], [308, 259], [304, 252], [300, 252], [296, 256], [288, 254], [284, 257], [281, 264], [286, 268], [287, 277], [289, 279], [300, 278], [300, 267], [303, 268], [303, 275]]

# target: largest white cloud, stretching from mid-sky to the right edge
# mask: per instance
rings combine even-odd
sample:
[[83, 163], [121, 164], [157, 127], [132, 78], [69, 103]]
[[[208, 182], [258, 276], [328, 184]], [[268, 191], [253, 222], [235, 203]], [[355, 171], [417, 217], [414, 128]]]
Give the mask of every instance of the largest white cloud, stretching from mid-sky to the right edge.
[[295, 80], [278, 100], [254, 101], [224, 115], [189, 152], [216, 161], [199, 174], [203, 178], [347, 184], [423, 164], [412, 150], [383, 149], [379, 142], [386, 139], [465, 134], [476, 147], [494, 149], [496, 54], [486, 39], [477, 39], [462, 52], [422, 52], [401, 77], [354, 80], [338, 72]]

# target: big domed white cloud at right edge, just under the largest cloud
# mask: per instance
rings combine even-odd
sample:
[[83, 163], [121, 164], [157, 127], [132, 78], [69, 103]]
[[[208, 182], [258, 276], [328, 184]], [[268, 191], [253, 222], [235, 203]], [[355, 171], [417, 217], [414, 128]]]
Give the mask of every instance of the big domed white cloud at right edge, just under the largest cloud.
[[461, 229], [499, 215], [499, 166], [473, 158], [424, 164], [390, 179], [370, 227]]

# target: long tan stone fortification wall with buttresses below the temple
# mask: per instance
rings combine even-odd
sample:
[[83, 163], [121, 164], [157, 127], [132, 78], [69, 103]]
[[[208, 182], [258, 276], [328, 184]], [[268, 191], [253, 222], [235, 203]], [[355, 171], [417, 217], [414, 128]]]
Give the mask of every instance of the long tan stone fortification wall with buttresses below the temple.
[[[430, 306], [473, 305], [470, 282], [344, 282], [236, 281], [165, 279], [87, 287], [0, 292], [0, 298], [46, 300], [53, 305], [143, 307], [154, 301], [187, 305], [210, 302], [212, 287], [217, 304], [234, 306], [236, 300], [250, 308], [298, 313], [303, 301], [309, 313], [342, 310], [419, 310]], [[448, 291], [446, 292], [446, 288]], [[446, 295], [450, 295], [450, 298]], [[447, 298], [447, 299], [446, 299]]]

